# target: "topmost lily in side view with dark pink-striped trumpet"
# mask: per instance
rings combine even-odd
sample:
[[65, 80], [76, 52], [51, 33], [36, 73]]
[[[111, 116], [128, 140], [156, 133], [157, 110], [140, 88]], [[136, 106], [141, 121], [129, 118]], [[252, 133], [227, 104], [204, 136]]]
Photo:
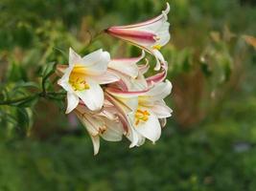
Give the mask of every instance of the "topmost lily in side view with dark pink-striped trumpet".
[[161, 64], [166, 65], [166, 61], [159, 50], [170, 40], [170, 23], [167, 17], [169, 11], [170, 6], [167, 3], [166, 10], [151, 20], [134, 25], [113, 26], [106, 29], [105, 32], [153, 54], [157, 61], [154, 70], [158, 71]]

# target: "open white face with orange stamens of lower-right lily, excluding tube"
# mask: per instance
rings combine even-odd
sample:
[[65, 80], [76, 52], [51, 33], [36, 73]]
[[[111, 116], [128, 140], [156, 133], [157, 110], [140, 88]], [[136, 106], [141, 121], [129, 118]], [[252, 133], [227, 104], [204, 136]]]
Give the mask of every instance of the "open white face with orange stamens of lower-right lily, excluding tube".
[[171, 117], [172, 110], [165, 104], [163, 98], [171, 94], [170, 81], [161, 82], [150, 91], [138, 96], [138, 107], [128, 115], [130, 124], [141, 137], [155, 142], [161, 135], [159, 118]]

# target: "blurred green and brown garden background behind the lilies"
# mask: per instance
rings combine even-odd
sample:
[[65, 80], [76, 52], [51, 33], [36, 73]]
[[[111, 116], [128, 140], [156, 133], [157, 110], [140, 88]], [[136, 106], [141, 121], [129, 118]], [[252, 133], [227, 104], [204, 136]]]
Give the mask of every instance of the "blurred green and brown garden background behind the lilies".
[[[256, 190], [256, 2], [172, 0], [169, 62], [174, 110], [155, 145], [92, 143], [61, 101], [0, 106], [0, 190]], [[112, 57], [137, 48], [105, 34], [149, 19], [160, 0], [1, 0], [0, 99], [40, 89], [53, 62], [104, 48]], [[148, 55], [151, 65], [154, 59]], [[48, 90], [58, 90], [53, 76]], [[32, 83], [31, 81], [35, 81]]]

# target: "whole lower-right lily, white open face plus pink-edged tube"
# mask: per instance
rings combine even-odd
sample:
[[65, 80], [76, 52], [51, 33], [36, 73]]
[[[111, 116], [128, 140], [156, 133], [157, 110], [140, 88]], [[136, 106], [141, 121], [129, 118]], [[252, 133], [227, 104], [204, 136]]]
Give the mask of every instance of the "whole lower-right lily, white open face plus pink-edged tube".
[[113, 88], [106, 88], [105, 91], [110, 95], [109, 100], [126, 117], [128, 123], [126, 137], [131, 141], [130, 147], [140, 146], [145, 138], [152, 142], [160, 138], [165, 118], [172, 116], [172, 110], [163, 100], [171, 94], [170, 81], [160, 82], [150, 90], [141, 92], [122, 92]]

